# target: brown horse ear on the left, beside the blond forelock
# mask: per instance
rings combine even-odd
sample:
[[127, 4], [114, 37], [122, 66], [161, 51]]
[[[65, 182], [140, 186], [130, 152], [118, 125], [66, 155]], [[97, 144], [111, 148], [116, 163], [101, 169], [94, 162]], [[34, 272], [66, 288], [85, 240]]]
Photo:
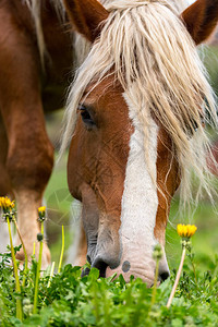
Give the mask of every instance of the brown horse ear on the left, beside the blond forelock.
[[100, 34], [108, 11], [97, 0], [63, 0], [68, 15], [78, 33], [92, 43]]

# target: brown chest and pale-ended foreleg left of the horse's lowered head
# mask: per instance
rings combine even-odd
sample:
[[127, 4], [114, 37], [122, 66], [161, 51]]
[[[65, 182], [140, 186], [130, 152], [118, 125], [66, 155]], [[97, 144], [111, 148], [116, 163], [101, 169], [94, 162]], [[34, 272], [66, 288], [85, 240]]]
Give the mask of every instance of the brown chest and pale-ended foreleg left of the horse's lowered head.
[[[28, 255], [53, 166], [44, 110], [63, 106], [73, 66], [73, 34], [61, 14], [50, 0], [0, 0], [0, 192], [15, 195]], [[45, 246], [44, 266], [49, 259]]]

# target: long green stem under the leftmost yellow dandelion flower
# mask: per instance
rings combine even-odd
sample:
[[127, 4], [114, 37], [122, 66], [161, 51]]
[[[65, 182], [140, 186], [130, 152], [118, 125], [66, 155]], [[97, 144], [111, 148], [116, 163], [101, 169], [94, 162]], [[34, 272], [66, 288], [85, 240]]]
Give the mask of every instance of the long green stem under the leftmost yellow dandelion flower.
[[[21, 294], [19, 271], [17, 271], [16, 258], [15, 258], [15, 253], [14, 253], [14, 247], [13, 247], [13, 242], [12, 242], [11, 223], [10, 223], [9, 217], [7, 217], [7, 222], [8, 222], [8, 228], [9, 228], [9, 238], [10, 238], [11, 257], [12, 257], [12, 262], [13, 262], [13, 270], [14, 270], [14, 277], [15, 277], [15, 287], [16, 287], [16, 292]], [[16, 299], [16, 318], [20, 319], [21, 322], [23, 319], [21, 298]]]

